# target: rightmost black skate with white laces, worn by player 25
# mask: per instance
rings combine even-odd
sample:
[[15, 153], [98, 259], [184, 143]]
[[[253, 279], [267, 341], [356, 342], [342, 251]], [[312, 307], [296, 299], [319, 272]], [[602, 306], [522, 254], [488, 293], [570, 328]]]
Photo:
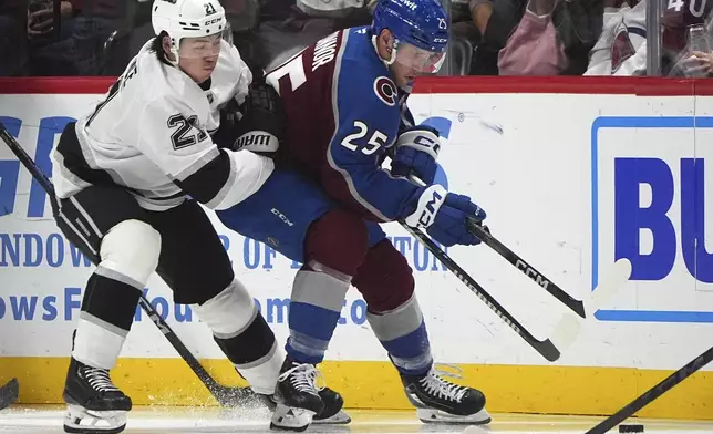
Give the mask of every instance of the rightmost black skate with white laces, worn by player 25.
[[485, 395], [477, 389], [451, 383], [433, 369], [425, 375], [401, 375], [401, 381], [422, 422], [473, 425], [490, 422], [485, 410]]

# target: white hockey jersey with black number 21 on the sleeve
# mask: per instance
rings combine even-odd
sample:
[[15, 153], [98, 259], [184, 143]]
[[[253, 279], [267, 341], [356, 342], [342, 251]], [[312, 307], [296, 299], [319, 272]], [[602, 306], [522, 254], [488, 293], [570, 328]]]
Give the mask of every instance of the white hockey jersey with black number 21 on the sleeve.
[[237, 49], [221, 43], [216, 69], [198, 85], [161, 62], [147, 42], [93, 113], [76, 122], [78, 141], [61, 140], [53, 149], [56, 195], [114, 184], [145, 209], [165, 210], [187, 195], [226, 209], [257, 192], [273, 162], [219, 149], [209, 134], [219, 126], [219, 108], [232, 97], [242, 102], [252, 80]]

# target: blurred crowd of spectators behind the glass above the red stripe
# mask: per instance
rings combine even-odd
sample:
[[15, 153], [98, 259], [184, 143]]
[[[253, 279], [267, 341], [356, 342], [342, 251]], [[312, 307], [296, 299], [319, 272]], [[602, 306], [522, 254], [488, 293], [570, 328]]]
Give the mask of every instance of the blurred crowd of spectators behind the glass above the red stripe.
[[[374, 1], [374, 0], [372, 0]], [[713, 71], [713, 0], [660, 0], [661, 74]], [[269, 69], [371, 22], [369, 0], [220, 0]], [[452, 0], [452, 75], [647, 75], [647, 0]], [[110, 75], [153, 37], [152, 0], [0, 0], [0, 76]], [[713, 25], [712, 25], [713, 27]]]

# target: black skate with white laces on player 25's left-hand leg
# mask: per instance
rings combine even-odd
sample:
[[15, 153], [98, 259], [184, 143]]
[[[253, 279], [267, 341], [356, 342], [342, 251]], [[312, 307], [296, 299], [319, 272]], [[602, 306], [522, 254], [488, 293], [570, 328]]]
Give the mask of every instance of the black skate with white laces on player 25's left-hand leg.
[[324, 411], [317, 386], [319, 371], [313, 364], [285, 359], [275, 390], [277, 409], [272, 413], [271, 430], [304, 431], [316, 414]]

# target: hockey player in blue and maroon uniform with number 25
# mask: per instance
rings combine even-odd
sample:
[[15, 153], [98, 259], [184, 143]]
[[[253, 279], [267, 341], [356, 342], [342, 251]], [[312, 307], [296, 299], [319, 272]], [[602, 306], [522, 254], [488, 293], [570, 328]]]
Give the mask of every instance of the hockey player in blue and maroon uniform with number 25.
[[[485, 213], [433, 183], [438, 134], [414, 126], [405, 105], [414, 79], [437, 72], [447, 40], [436, 0], [381, 0], [371, 27], [327, 37], [267, 74], [287, 118], [277, 168], [257, 193], [218, 216], [303, 264], [276, 395], [308, 416], [322, 409], [316, 365], [354, 286], [422, 421], [490, 421], [480, 391], [434, 371], [413, 272], [380, 227], [405, 220], [445, 246], [479, 242], [466, 217], [483, 220]], [[230, 144], [260, 146], [259, 137]], [[388, 156], [390, 172], [381, 168]], [[426, 185], [411, 183], [410, 174]]]

